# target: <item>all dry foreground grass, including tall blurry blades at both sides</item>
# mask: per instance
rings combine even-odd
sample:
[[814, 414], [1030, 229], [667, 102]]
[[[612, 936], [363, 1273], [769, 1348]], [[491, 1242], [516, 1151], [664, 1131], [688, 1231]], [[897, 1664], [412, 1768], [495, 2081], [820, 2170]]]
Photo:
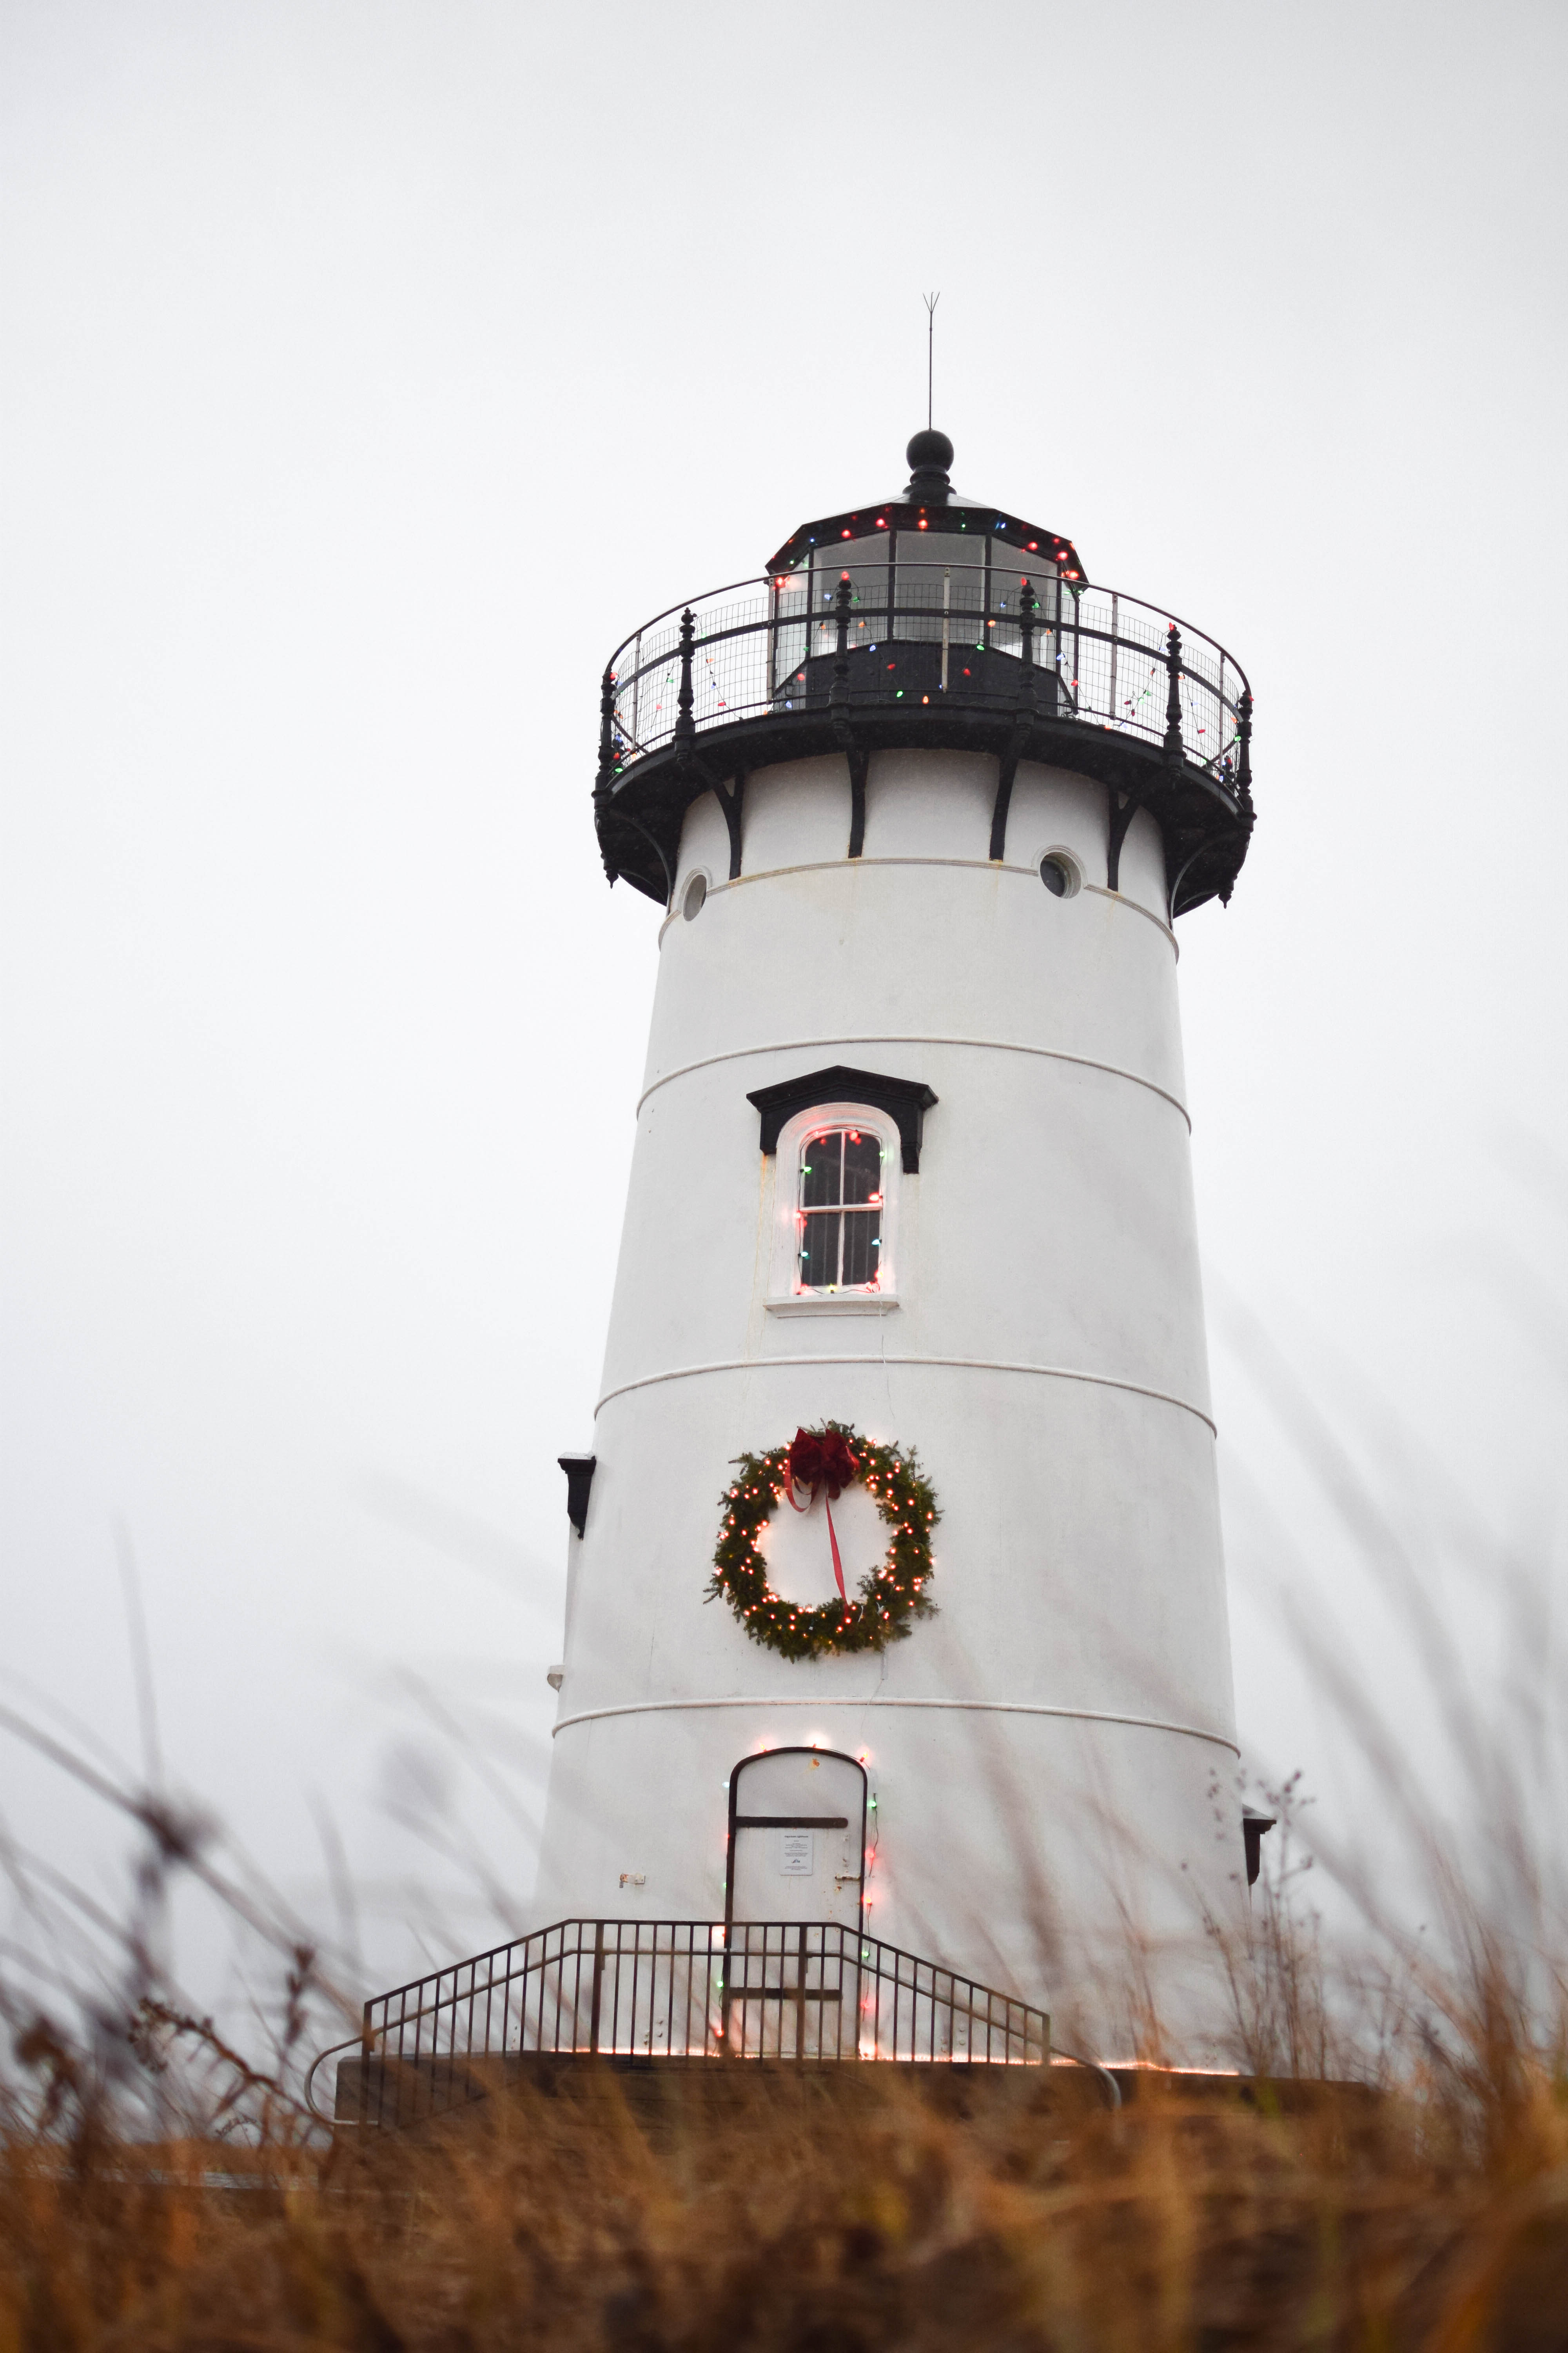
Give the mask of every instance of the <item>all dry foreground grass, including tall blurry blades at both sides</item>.
[[[1302, 1624], [1403, 1897], [1328, 1835], [1302, 1878], [1274, 1793], [1248, 1939], [1215, 1939], [1248, 2089], [1145, 2073], [1110, 2113], [1072, 2068], [966, 2087], [576, 2066], [329, 2146], [301, 2066], [355, 2005], [301, 1922], [195, 1817], [28, 1734], [132, 1819], [141, 1861], [127, 1922], [73, 1944], [85, 1899], [0, 1857], [19, 1915], [59, 1934], [0, 1960], [0, 2353], [1568, 2353], [1568, 1758], [1544, 1581], [1509, 1586], [1476, 1553], [1519, 1595], [1509, 1657], [1528, 1661], [1507, 1706], [1479, 1699], [1422, 1565], [1321, 1459], [1425, 1647], [1472, 1819], [1434, 1817], [1352, 1649]], [[181, 2007], [160, 1960], [176, 1880], [270, 1953], [249, 2040]], [[1128, 1953], [1128, 1984], [1150, 1958]], [[1140, 2033], [1164, 2049], [1147, 2005]]]

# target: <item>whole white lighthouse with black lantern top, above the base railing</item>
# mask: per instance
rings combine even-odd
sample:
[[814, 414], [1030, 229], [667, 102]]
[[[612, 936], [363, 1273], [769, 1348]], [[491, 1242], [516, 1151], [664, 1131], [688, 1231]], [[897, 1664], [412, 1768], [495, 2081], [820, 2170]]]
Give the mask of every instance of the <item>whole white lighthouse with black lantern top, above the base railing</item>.
[[1173, 922], [1251, 696], [907, 456], [607, 671], [599, 845], [668, 915], [534, 1913], [1048, 2007], [1246, 1889]]

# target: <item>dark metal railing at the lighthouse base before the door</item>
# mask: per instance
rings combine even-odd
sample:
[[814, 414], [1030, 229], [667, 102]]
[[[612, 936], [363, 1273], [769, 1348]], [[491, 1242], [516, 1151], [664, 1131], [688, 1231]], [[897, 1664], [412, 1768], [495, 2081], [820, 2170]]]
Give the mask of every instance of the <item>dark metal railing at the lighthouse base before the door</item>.
[[835, 1922], [559, 1920], [367, 2002], [341, 2052], [336, 2120], [407, 2125], [527, 2052], [1044, 2066], [1051, 2019]]

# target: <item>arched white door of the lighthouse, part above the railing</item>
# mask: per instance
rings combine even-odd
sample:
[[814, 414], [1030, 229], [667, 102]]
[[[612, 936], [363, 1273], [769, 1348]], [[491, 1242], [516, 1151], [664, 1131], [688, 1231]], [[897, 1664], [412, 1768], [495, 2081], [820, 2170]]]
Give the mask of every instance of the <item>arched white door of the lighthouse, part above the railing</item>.
[[865, 1767], [832, 1748], [769, 1748], [729, 1777], [724, 1918], [860, 1925]]

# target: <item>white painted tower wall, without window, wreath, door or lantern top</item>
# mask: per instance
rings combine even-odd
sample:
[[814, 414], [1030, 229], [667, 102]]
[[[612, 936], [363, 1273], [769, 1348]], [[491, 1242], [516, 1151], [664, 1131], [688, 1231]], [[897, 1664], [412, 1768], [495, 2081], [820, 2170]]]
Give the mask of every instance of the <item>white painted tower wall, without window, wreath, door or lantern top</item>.
[[[1105, 788], [1025, 762], [990, 864], [994, 791], [980, 753], [875, 753], [851, 861], [846, 762], [762, 769], [736, 882], [712, 795], [686, 812], [569, 1539], [541, 1925], [719, 1920], [731, 1767], [811, 1741], [872, 1777], [872, 1932], [1004, 1991], [1060, 2009], [1128, 1925], [1187, 1946], [1204, 1908], [1241, 1915], [1161, 840], [1135, 816], [1107, 892]], [[1041, 885], [1046, 852], [1077, 894]], [[759, 1153], [748, 1089], [830, 1064], [938, 1096], [898, 1179], [898, 1304], [778, 1313], [795, 1165]], [[825, 1417], [919, 1452], [940, 1614], [795, 1664], [705, 1584], [733, 1457]], [[792, 1574], [809, 1541], [830, 1574], [820, 1508], [785, 1541]]]

